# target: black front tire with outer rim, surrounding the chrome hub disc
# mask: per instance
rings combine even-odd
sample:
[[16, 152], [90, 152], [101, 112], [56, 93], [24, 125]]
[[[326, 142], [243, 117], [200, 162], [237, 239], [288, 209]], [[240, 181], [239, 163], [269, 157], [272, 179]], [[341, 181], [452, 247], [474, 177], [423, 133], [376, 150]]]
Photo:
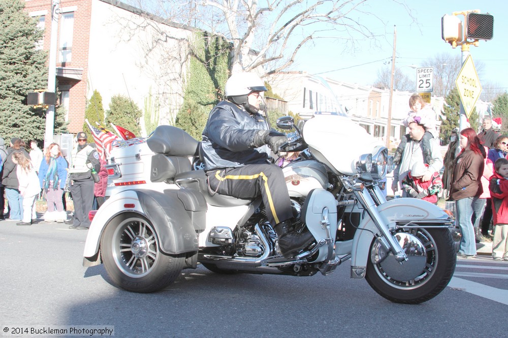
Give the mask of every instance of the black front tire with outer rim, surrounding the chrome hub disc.
[[[419, 228], [405, 232], [419, 238], [425, 247], [427, 257], [422, 274], [410, 281], [399, 281], [390, 278], [380, 264], [374, 265], [369, 260], [365, 279], [377, 293], [389, 301], [420, 304], [435, 297], [450, 282], [457, 259], [454, 241], [448, 229]], [[372, 241], [372, 245], [374, 244], [375, 240]], [[401, 265], [402, 269], [403, 266]]]

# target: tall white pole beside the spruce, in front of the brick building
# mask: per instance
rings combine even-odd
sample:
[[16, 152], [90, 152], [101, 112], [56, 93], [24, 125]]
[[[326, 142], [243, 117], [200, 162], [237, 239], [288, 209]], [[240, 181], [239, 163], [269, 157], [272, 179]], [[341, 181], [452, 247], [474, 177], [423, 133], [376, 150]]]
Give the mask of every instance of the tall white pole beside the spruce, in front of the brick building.
[[[48, 91], [56, 93], [56, 52], [58, 42], [58, 14], [59, 0], [53, 0], [51, 3], [51, 38], [49, 47], [49, 72], [48, 72]], [[44, 147], [53, 142], [53, 131], [55, 122], [55, 105], [51, 104], [46, 110], [46, 129], [44, 134]]]

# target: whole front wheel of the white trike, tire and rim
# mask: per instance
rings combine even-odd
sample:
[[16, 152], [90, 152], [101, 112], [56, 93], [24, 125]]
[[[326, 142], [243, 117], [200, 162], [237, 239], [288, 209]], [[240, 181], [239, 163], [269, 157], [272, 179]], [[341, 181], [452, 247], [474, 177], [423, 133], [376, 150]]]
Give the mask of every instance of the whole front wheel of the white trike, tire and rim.
[[[426, 302], [439, 294], [452, 278], [456, 263], [452, 235], [448, 229], [432, 228], [399, 230], [397, 235], [399, 239], [414, 243], [407, 246], [406, 254], [409, 251], [417, 254], [402, 265], [395, 262], [391, 253], [378, 264], [369, 261], [365, 279], [389, 301], [402, 304]], [[376, 246], [374, 239], [371, 250]]]

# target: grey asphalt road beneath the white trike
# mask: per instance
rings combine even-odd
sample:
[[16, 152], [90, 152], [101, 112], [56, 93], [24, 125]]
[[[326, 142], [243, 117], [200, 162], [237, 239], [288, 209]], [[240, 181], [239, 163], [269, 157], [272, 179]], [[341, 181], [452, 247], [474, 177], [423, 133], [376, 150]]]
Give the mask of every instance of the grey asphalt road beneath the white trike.
[[107, 325], [119, 337], [506, 335], [508, 262], [458, 260], [450, 286], [421, 305], [387, 301], [350, 279], [348, 262], [300, 278], [200, 266], [136, 294], [111, 285], [102, 265], [82, 267], [85, 238], [65, 224], [0, 221], [0, 326]]

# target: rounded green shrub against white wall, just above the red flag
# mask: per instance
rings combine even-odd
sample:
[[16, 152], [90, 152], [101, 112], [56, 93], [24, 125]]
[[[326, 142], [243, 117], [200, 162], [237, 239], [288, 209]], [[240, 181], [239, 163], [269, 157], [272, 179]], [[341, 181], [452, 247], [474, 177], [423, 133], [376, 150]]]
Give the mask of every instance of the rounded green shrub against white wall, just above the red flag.
[[109, 110], [106, 111], [106, 127], [111, 129], [110, 123], [120, 126], [136, 136], [140, 136], [139, 119], [143, 112], [138, 105], [132, 102], [128, 97], [122, 95], [114, 95], [109, 102]]

